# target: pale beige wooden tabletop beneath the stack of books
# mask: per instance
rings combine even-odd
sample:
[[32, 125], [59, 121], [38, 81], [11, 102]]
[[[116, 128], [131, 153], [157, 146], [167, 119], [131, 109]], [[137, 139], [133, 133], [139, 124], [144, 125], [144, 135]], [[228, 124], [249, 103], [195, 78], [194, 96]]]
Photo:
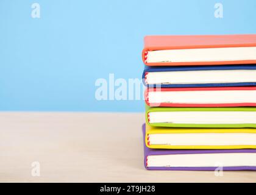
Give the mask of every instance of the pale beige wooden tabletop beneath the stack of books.
[[146, 171], [143, 121], [143, 113], [0, 113], [0, 182], [256, 182], [254, 171]]

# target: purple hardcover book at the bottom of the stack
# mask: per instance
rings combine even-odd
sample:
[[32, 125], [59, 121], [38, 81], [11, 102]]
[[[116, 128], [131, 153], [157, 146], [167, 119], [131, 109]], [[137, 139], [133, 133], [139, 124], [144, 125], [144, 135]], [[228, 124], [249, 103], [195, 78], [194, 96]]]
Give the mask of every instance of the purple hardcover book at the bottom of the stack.
[[[142, 126], [143, 140], [145, 124]], [[256, 149], [150, 149], [144, 142], [144, 166], [149, 170], [238, 171], [256, 170]]]

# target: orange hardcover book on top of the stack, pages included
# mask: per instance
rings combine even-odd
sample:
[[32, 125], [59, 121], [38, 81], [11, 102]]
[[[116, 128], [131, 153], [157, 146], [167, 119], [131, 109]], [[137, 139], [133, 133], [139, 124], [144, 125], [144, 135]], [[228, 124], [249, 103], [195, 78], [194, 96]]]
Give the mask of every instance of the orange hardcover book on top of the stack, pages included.
[[256, 63], [256, 35], [146, 36], [142, 52], [148, 66]]

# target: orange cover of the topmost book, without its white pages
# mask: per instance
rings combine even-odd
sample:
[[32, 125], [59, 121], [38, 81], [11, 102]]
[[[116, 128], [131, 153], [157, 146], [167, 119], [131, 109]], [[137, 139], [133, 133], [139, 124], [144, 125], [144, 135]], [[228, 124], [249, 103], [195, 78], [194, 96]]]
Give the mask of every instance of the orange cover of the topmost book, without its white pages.
[[[142, 58], [148, 66], [186, 66], [186, 65], [237, 65], [256, 63], [255, 58], [248, 60], [198, 61], [198, 62], [148, 62], [151, 51], [207, 48], [255, 48], [256, 34], [251, 35], [151, 35], [144, 37]], [[256, 48], [255, 48], [256, 49]], [[186, 52], [186, 51], [184, 51]], [[254, 51], [252, 51], [254, 55]], [[214, 53], [214, 52], [213, 52]], [[232, 52], [230, 52], [232, 55]], [[246, 55], [246, 54], [244, 54]], [[235, 57], [235, 55], [233, 55]]]

